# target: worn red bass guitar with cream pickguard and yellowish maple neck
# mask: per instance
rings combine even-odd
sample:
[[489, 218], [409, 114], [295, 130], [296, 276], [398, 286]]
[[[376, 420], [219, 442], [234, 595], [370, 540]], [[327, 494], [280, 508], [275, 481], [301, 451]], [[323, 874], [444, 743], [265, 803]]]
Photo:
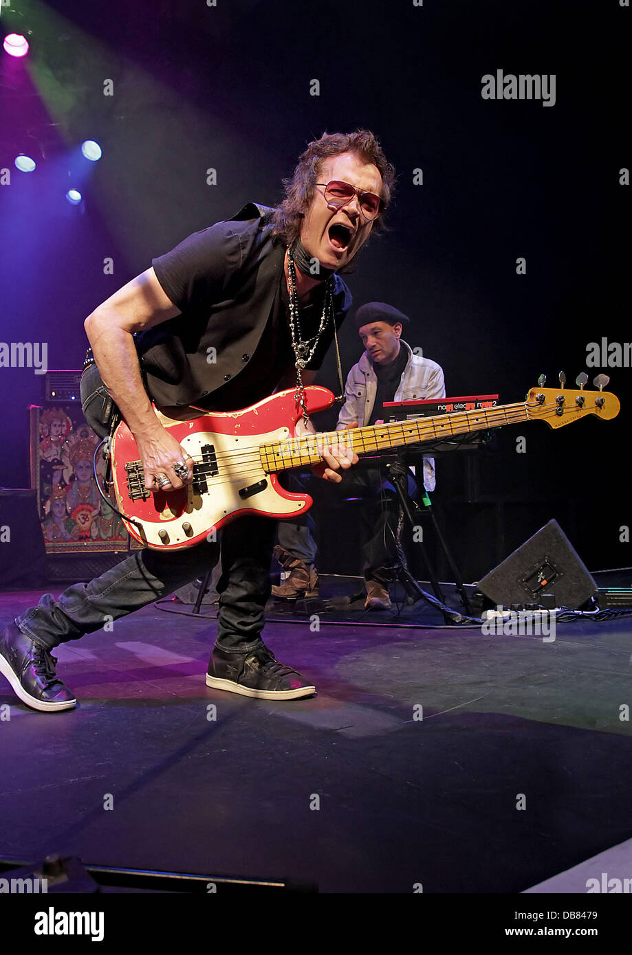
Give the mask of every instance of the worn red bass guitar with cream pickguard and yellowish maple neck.
[[[317, 385], [305, 389], [305, 399], [308, 414], [329, 408], [335, 400]], [[304, 514], [312, 499], [286, 491], [278, 475], [319, 463], [328, 447], [353, 450], [361, 457], [523, 421], [561, 428], [590, 414], [613, 418], [619, 410], [619, 399], [611, 393], [537, 387], [515, 404], [297, 436], [301, 412], [290, 389], [238, 412], [204, 413], [192, 407], [188, 414], [201, 414], [185, 421], [155, 409], [163, 427], [194, 461], [192, 483], [168, 492], [145, 488], [136, 441], [120, 421], [111, 442], [112, 483], [120, 515], [136, 541], [157, 550], [180, 550], [214, 540], [219, 528], [241, 515], [283, 520]]]

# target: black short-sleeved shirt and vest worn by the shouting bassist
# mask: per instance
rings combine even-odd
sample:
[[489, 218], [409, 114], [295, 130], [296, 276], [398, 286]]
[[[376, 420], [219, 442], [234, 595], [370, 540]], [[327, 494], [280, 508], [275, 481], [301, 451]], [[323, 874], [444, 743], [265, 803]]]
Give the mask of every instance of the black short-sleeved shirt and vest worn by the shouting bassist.
[[[181, 314], [135, 336], [147, 391], [158, 405], [235, 411], [271, 394], [294, 368], [284, 279], [285, 245], [250, 203], [229, 222], [196, 232], [152, 265]], [[250, 216], [251, 218], [245, 218]], [[351, 294], [334, 277], [339, 327]], [[300, 309], [303, 338], [320, 323], [324, 284]], [[308, 364], [317, 370], [334, 335], [330, 322]]]

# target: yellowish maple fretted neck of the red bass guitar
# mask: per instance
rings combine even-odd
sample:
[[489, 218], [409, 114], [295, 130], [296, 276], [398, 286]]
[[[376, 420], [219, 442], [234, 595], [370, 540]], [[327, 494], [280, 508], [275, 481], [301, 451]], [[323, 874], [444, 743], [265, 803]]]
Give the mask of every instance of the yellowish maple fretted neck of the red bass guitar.
[[472, 431], [519, 424], [521, 421], [528, 421], [530, 417], [527, 402], [521, 401], [496, 408], [435, 414], [427, 418], [392, 421], [389, 424], [369, 425], [348, 431], [321, 432], [318, 435], [304, 435], [262, 445], [262, 460], [269, 473], [287, 471], [317, 464], [322, 459], [322, 449], [329, 446], [337, 447], [342, 444], [349, 450], [353, 447], [353, 451], [361, 457], [375, 454], [377, 451], [403, 448], [409, 444], [445, 441], [454, 435], [468, 435]]

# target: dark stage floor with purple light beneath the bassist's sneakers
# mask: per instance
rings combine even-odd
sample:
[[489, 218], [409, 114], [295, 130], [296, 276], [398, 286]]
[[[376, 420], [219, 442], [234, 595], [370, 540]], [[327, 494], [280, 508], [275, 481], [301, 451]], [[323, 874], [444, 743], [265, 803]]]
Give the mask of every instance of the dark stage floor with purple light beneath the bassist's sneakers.
[[[3, 626], [39, 593], [1, 593]], [[632, 837], [632, 618], [548, 642], [324, 619], [265, 631], [305, 700], [208, 690], [214, 622], [155, 605], [55, 651], [75, 711], [1, 680], [0, 856], [507, 893]]]

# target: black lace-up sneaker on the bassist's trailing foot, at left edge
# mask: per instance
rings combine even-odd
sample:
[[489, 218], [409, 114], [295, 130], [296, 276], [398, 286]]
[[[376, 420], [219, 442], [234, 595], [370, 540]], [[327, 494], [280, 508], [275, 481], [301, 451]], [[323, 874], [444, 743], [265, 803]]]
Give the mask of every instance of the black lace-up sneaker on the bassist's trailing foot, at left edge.
[[45, 712], [72, 710], [76, 699], [54, 672], [56, 658], [15, 624], [0, 634], [0, 673], [23, 703]]

